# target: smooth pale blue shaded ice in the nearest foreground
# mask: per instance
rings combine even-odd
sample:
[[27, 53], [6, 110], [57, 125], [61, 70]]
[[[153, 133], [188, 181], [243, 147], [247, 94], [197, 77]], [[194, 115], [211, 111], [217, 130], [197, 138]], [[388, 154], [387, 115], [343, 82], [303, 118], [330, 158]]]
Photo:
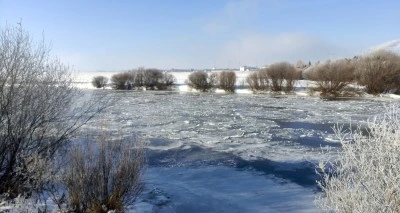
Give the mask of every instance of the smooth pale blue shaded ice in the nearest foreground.
[[[314, 192], [228, 167], [149, 168], [137, 212], [318, 212]], [[277, 184], [281, 182], [281, 184]]]

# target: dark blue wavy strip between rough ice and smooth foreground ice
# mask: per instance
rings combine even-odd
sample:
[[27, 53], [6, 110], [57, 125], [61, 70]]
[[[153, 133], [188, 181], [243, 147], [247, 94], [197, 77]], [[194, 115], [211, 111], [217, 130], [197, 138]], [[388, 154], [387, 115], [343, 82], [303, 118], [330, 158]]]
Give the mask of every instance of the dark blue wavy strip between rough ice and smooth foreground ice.
[[150, 167], [226, 166], [282, 178], [305, 187], [315, 187], [318, 179], [314, 164], [308, 161], [281, 162], [262, 158], [245, 160], [230, 153], [215, 152], [199, 146], [184, 146], [168, 151], [150, 150], [148, 157]]

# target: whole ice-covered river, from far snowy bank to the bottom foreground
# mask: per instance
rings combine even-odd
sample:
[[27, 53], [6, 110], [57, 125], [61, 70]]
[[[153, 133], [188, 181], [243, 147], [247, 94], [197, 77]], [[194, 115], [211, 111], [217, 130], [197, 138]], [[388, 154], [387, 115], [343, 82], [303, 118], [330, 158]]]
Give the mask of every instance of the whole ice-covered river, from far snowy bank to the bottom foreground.
[[101, 126], [148, 141], [138, 212], [314, 212], [314, 164], [332, 127], [363, 124], [386, 99], [115, 92]]

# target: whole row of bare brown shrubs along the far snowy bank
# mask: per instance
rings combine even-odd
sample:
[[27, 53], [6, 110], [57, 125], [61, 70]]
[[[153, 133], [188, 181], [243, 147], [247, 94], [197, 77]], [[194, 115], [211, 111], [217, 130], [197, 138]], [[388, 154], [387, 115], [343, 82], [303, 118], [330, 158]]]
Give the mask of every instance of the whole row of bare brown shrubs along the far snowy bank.
[[[344, 97], [361, 95], [363, 92], [378, 95], [400, 93], [400, 56], [397, 53], [379, 50], [351, 59], [328, 60], [310, 66], [295, 67], [289, 62], [271, 64], [246, 77], [246, 84], [253, 92], [270, 91], [291, 93], [296, 81], [314, 82], [308, 90], [322, 97]], [[111, 86], [118, 90], [171, 88], [176, 79], [158, 69], [121, 72], [111, 77]], [[104, 88], [108, 79], [96, 76], [92, 80], [96, 88]], [[233, 71], [191, 73], [186, 84], [196, 90], [207, 92], [222, 89], [234, 92], [237, 76]], [[361, 87], [360, 87], [361, 86]]]

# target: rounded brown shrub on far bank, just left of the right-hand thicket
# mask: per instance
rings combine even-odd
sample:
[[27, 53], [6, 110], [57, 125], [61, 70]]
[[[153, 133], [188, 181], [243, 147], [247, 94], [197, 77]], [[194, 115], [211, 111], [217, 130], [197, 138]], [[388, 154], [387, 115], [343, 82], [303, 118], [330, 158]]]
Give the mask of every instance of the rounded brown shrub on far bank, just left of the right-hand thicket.
[[296, 68], [287, 62], [280, 62], [266, 68], [268, 77], [271, 79], [271, 91], [291, 92], [294, 90], [294, 83], [300, 78]]

